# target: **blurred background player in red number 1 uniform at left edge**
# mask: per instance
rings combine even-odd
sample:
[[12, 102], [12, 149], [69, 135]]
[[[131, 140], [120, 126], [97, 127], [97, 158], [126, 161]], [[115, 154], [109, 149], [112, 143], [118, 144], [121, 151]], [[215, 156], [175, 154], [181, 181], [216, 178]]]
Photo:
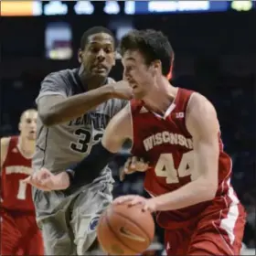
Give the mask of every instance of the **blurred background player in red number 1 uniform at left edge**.
[[19, 136], [1, 139], [1, 255], [43, 255], [31, 186], [22, 180], [32, 172], [37, 111], [22, 113]]

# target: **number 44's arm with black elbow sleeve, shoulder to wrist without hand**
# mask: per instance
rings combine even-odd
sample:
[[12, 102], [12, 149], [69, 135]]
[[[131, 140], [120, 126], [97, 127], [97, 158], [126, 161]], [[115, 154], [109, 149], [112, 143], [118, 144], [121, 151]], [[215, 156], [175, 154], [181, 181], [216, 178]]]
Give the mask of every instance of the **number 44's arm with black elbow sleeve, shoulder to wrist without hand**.
[[101, 143], [92, 147], [90, 155], [79, 164], [69, 168], [69, 175], [70, 170], [73, 174], [73, 176], [70, 176], [72, 185], [90, 183], [100, 175], [101, 170], [120, 151], [124, 141], [132, 138], [131, 121], [130, 106], [127, 105], [112, 118], [103, 134]]

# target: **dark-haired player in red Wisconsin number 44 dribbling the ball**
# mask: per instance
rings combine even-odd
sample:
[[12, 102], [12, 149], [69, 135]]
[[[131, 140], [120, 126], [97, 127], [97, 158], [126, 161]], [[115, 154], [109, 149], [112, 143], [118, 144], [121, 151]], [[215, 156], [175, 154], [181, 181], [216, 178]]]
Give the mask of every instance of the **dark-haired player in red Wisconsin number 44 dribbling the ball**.
[[156, 212], [168, 255], [239, 255], [245, 212], [230, 186], [231, 160], [215, 108], [166, 79], [174, 53], [161, 32], [132, 31], [121, 50], [135, 99], [112, 118], [87, 158], [57, 176], [42, 172], [28, 182], [45, 190], [88, 182], [91, 170], [100, 171], [132, 139], [133, 155], [150, 165], [144, 187], [153, 197], [128, 195], [114, 203], [129, 201]]

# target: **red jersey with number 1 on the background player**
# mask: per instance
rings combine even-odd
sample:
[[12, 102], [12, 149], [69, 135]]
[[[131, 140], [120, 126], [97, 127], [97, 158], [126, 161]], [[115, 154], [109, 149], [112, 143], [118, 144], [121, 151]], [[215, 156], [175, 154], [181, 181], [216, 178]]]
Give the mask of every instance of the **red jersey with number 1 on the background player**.
[[18, 137], [11, 137], [1, 171], [1, 208], [34, 213], [31, 186], [22, 182], [32, 173], [31, 159], [20, 153], [17, 143]]

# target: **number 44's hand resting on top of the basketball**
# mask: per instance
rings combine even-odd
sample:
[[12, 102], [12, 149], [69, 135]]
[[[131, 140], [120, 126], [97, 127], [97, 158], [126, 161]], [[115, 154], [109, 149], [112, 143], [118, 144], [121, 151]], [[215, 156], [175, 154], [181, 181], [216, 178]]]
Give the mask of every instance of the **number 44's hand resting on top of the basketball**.
[[130, 206], [142, 205], [144, 210], [154, 212], [156, 210], [155, 200], [153, 198], [147, 199], [145, 197], [136, 195], [127, 195], [117, 197], [113, 200], [113, 204], [129, 203]]

